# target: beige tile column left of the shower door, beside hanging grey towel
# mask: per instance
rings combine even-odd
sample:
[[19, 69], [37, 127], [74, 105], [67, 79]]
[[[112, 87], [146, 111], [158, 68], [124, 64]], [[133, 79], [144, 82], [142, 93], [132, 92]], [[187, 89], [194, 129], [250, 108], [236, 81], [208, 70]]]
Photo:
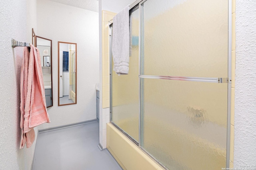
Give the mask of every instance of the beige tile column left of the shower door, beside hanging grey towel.
[[108, 21], [116, 15], [102, 10], [102, 108], [109, 107], [109, 33]]

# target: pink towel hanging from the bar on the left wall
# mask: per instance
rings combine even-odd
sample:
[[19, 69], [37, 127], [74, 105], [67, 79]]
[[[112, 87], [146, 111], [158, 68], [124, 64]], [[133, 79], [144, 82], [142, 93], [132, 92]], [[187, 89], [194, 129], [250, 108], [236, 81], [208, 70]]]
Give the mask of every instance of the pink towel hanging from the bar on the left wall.
[[35, 139], [34, 127], [50, 123], [47, 113], [42, 66], [39, 51], [34, 45], [24, 48], [20, 75], [20, 149], [31, 147]]

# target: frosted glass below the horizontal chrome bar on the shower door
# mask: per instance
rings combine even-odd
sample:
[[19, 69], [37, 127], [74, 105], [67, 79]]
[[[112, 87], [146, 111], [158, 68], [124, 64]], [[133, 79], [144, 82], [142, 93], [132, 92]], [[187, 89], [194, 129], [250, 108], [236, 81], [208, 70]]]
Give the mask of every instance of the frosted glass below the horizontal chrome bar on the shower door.
[[226, 167], [228, 84], [142, 82], [142, 148], [170, 170]]

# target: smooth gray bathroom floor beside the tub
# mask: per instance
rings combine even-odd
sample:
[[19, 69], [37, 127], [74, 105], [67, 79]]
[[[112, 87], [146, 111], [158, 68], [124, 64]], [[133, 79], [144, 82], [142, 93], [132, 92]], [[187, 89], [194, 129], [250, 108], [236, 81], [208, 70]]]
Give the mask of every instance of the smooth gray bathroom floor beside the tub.
[[122, 170], [98, 138], [97, 121], [39, 133], [33, 170]]

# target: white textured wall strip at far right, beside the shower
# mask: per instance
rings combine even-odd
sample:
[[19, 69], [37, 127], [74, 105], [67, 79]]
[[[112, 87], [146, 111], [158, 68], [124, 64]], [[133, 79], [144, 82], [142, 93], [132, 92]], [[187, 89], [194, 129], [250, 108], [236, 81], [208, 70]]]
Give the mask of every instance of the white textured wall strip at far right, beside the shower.
[[256, 165], [256, 1], [236, 1], [234, 168]]

